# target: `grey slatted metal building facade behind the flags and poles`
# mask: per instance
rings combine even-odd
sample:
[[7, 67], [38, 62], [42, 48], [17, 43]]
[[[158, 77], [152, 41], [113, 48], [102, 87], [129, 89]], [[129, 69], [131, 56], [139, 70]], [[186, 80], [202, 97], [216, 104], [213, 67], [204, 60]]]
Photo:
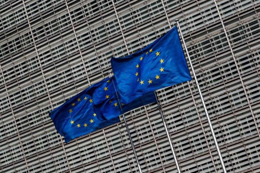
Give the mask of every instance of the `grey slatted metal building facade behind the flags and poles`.
[[[124, 124], [67, 144], [48, 116], [180, 19], [228, 172], [260, 172], [260, 0], [0, 1], [0, 172], [138, 172]], [[182, 172], [222, 172], [194, 84], [158, 91]], [[126, 114], [144, 172], [173, 173], [156, 104]]]

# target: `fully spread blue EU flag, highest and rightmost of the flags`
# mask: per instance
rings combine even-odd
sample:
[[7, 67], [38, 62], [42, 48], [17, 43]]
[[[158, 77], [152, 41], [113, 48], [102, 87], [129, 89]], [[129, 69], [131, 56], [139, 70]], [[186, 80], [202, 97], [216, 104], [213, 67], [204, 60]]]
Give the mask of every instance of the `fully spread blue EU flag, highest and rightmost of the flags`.
[[138, 52], [113, 57], [111, 65], [124, 104], [149, 91], [191, 80], [177, 27]]

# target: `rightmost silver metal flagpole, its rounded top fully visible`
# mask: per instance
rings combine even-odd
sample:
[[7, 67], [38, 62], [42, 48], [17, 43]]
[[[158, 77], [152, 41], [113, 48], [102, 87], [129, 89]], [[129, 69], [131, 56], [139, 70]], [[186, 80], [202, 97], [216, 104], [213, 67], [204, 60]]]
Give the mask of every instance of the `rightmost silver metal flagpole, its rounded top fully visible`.
[[198, 80], [197, 80], [197, 77], [196, 77], [196, 75], [195, 75], [194, 68], [193, 68], [193, 66], [192, 66], [192, 61], [191, 61], [191, 59], [190, 59], [190, 55], [189, 55], [188, 49], [187, 49], [187, 47], [186, 47], [186, 44], [185, 44], [185, 41], [184, 41], [182, 32], [181, 32], [181, 28], [180, 28], [180, 25], [179, 25], [179, 19], [176, 19], [175, 22], [177, 22], [177, 26], [178, 26], [179, 31], [180, 31], [180, 34], [181, 34], [181, 39], [182, 39], [182, 41], [183, 41], [183, 44], [184, 44], [184, 47], [185, 47], [185, 50], [186, 50], [186, 53], [187, 53], [187, 57], [188, 57], [189, 62], [190, 62], [190, 67], [191, 67], [191, 69], [192, 69], [192, 73], [193, 73], [193, 76], [194, 76], [194, 79], [195, 79], [195, 82], [196, 82], [196, 85], [197, 85], [197, 88], [198, 88], [198, 92], [199, 92], [199, 95], [200, 95], [200, 99], [201, 99], [201, 101], [202, 101], [203, 108], [204, 108], [204, 110], [205, 110], [205, 114], [206, 114], [206, 116], [207, 116], [207, 120], [208, 120], [208, 123], [209, 123], [210, 131], [211, 131], [211, 134], [212, 134], [214, 143], [215, 143], [216, 148], [217, 148], [217, 151], [218, 151], [218, 157], [219, 157], [219, 159], [220, 159], [220, 163], [221, 163], [223, 172], [226, 173], [226, 167], [225, 167], [225, 164], [224, 164], [222, 155], [221, 155], [221, 153], [220, 153], [220, 149], [219, 149], [219, 146], [218, 146], [218, 141], [217, 141], [217, 138], [216, 138], [216, 136], [215, 136], [215, 133], [214, 133], [214, 130], [213, 130], [213, 127], [212, 127], [210, 118], [209, 118], [209, 114], [208, 114], [208, 111], [207, 111], [207, 108], [206, 108], [206, 105], [205, 105], [205, 102], [204, 102], [204, 99], [203, 99], [203, 96], [202, 96], [202, 93], [201, 93], [201, 90], [200, 90], [200, 86], [199, 86], [199, 84], [198, 84]]

